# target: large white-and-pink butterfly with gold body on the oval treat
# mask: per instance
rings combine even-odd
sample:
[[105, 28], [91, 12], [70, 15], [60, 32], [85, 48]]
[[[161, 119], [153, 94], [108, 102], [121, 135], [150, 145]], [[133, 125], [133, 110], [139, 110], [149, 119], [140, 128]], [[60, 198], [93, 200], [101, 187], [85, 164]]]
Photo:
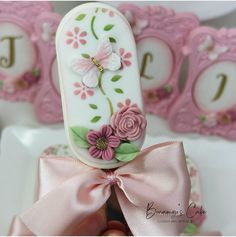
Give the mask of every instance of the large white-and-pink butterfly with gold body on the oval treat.
[[98, 85], [99, 73], [105, 69], [116, 71], [121, 67], [121, 58], [112, 50], [109, 39], [99, 41], [98, 50], [94, 56], [75, 59], [72, 61], [72, 69], [82, 77], [82, 82], [87, 87]]

